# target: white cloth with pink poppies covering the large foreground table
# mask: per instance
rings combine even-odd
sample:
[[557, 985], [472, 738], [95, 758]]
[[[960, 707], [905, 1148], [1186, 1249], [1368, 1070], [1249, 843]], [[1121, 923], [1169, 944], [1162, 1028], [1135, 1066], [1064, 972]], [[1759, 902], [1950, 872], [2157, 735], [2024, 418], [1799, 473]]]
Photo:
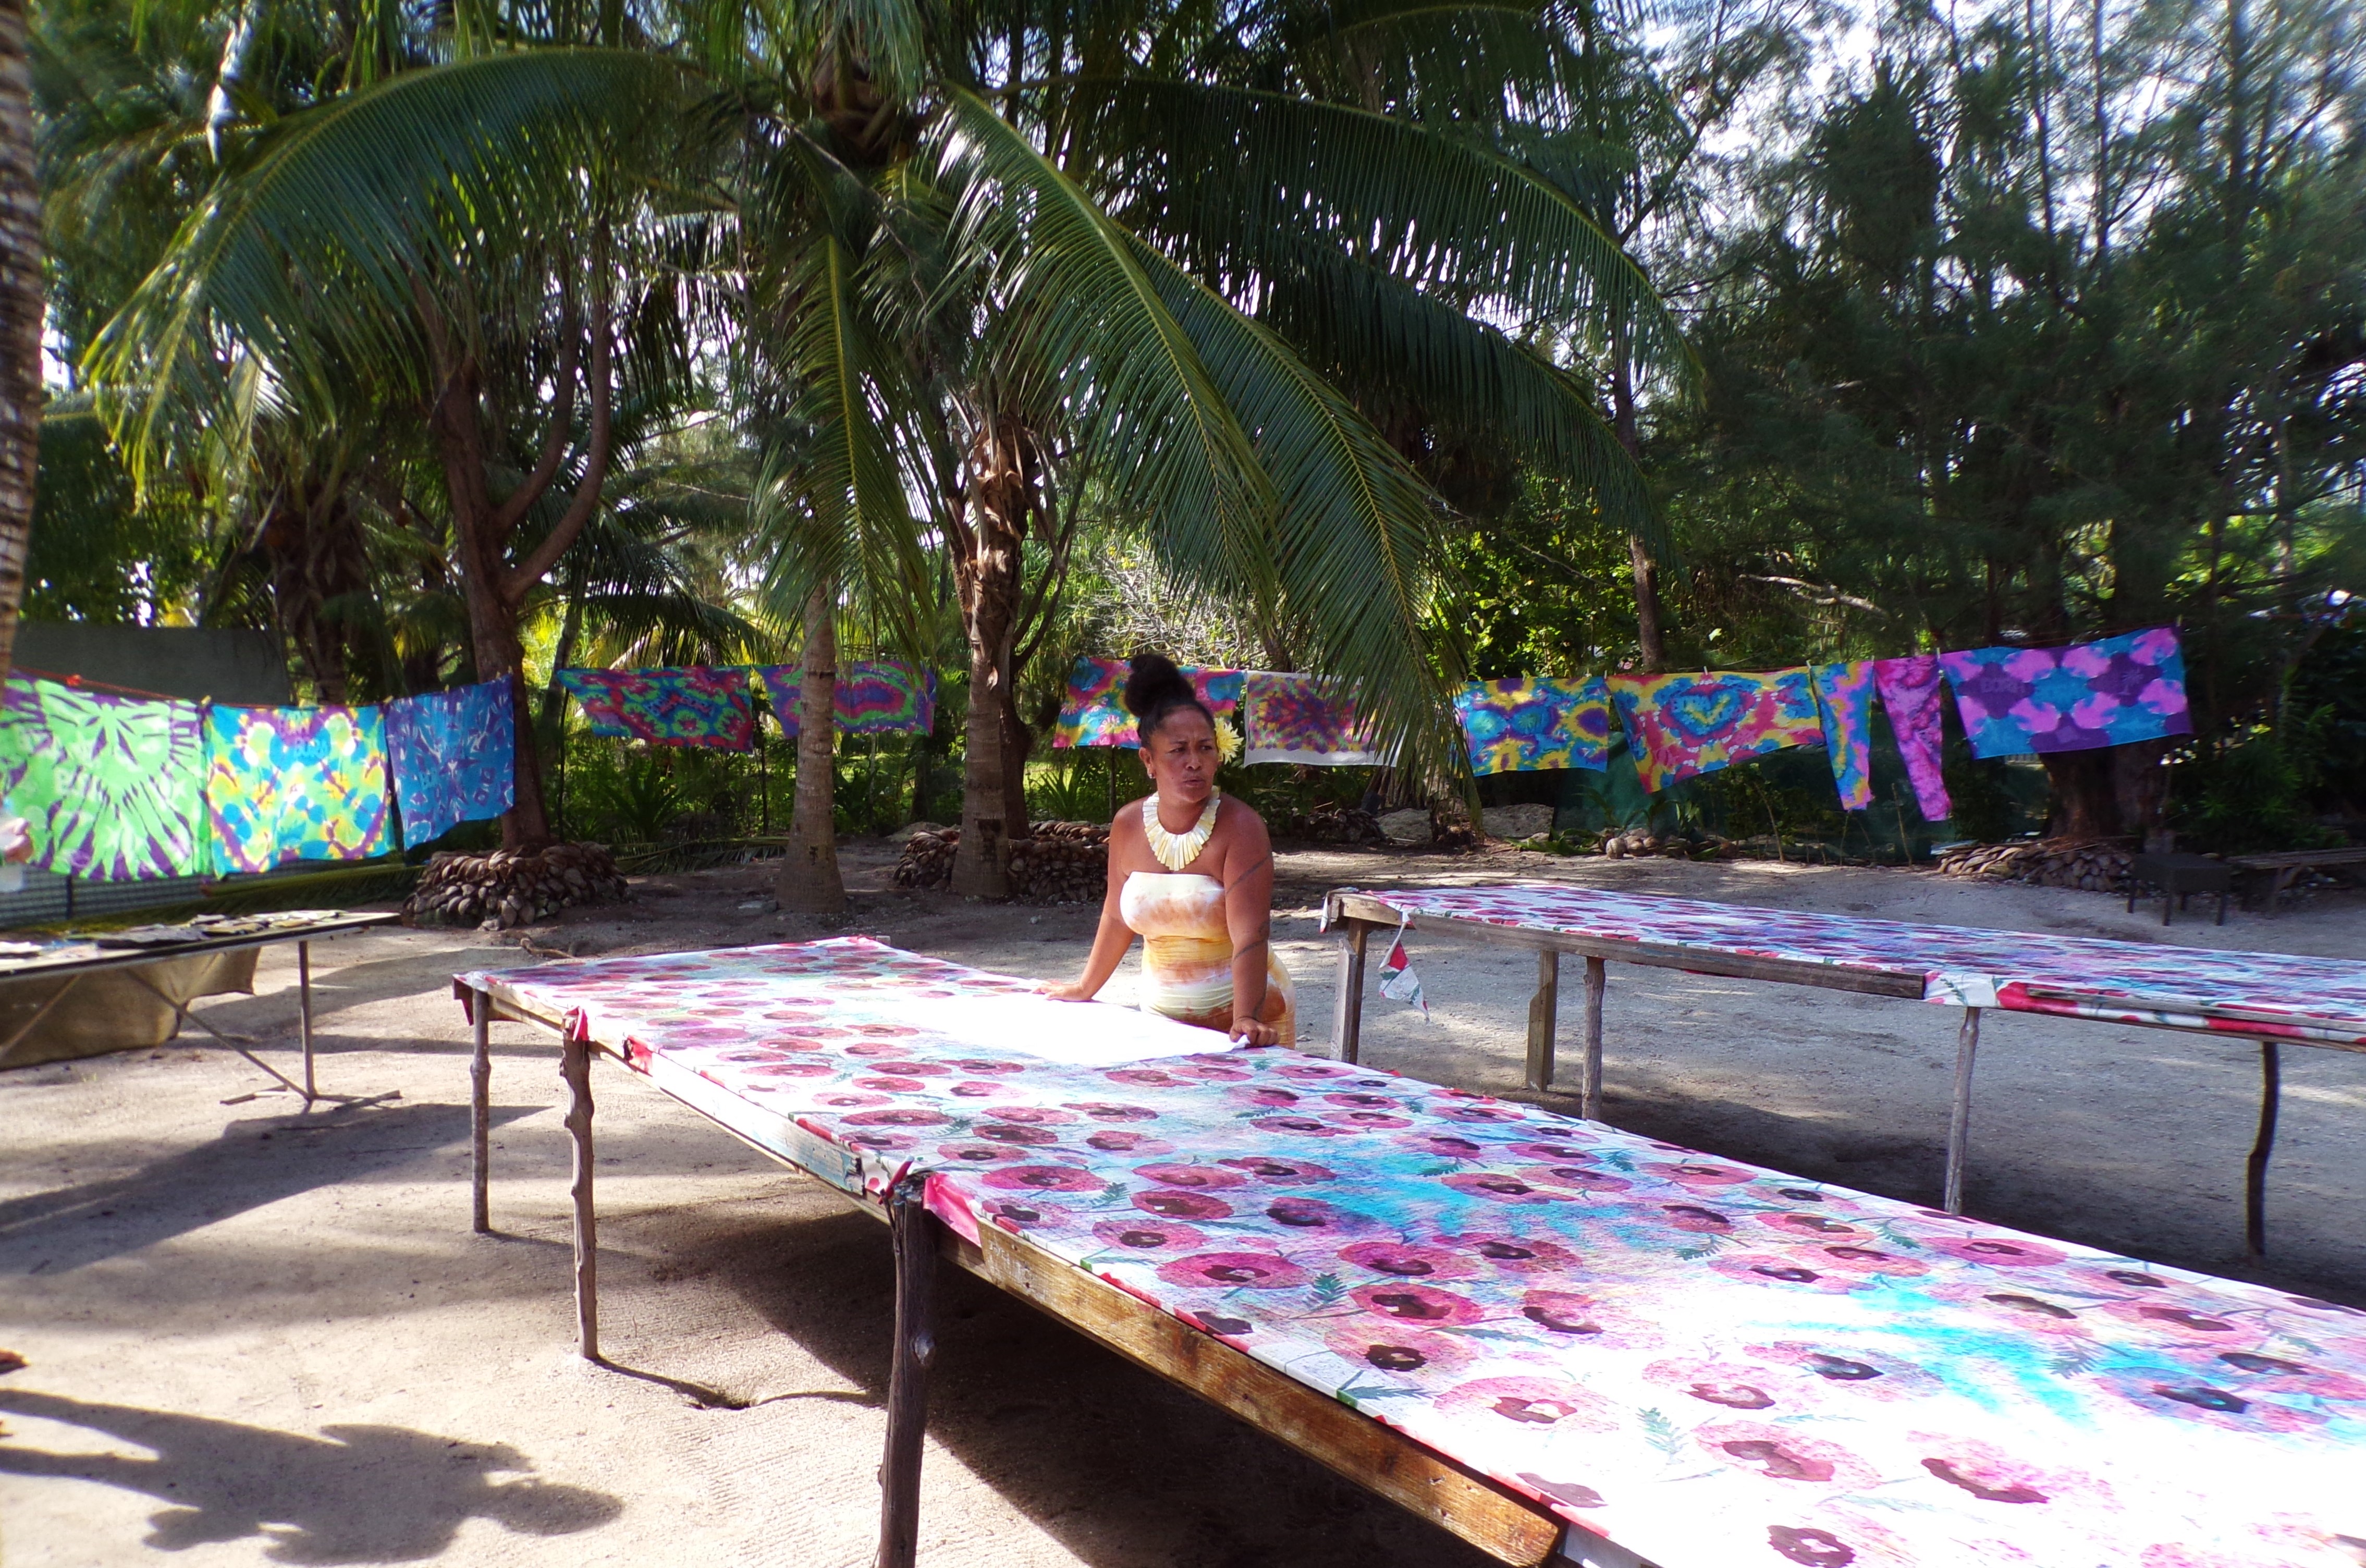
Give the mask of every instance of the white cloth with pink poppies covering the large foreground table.
[[816, 1175], [925, 1173], [1661, 1568], [2354, 1568], [2345, 1308], [1280, 1048], [963, 1048], [1015, 981], [861, 939], [468, 981], [632, 1017], [603, 1043]]

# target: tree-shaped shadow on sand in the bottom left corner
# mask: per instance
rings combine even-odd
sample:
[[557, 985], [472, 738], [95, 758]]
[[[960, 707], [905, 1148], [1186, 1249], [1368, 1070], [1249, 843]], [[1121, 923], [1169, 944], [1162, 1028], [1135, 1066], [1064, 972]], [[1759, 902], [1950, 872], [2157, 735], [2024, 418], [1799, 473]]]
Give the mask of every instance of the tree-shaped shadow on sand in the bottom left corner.
[[168, 1504], [149, 1516], [154, 1551], [263, 1537], [274, 1563], [416, 1563], [442, 1554], [471, 1518], [575, 1535], [625, 1511], [608, 1492], [535, 1480], [513, 1447], [407, 1426], [324, 1426], [308, 1438], [14, 1388], [0, 1391], [0, 1412], [154, 1450], [132, 1459], [0, 1440], [0, 1476], [97, 1480]]

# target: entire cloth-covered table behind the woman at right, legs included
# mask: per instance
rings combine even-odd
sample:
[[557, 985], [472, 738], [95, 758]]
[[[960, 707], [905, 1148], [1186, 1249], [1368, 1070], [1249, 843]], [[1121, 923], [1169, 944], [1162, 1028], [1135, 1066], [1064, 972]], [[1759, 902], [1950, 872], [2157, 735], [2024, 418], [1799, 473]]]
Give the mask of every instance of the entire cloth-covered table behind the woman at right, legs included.
[[1550, 1090], [1557, 1057], [1559, 963], [1585, 960], [1578, 1104], [1602, 1114], [1602, 996], [1607, 963], [1763, 979], [1952, 1005], [1954, 1090], [1947, 1116], [1945, 1206], [1964, 1211], [1973, 1062], [1980, 1015], [2037, 1012], [2141, 1029], [2257, 1041], [2260, 1123], [2245, 1161], [2243, 1230], [2267, 1251], [2267, 1166], [2276, 1147], [2281, 1045], [2366, 1050], [2366, 963], [2219, 953], [2134, 941], [1860, 920], [1701, 899], [1597, 892], [1562, 882], [1334, 889], [1323, 925], [1337, 932], [1332, 1041], [1356, 1062], [1363, 972], [1372, 932], [1422, 929], [1536, 953], [1526, 1081]]

